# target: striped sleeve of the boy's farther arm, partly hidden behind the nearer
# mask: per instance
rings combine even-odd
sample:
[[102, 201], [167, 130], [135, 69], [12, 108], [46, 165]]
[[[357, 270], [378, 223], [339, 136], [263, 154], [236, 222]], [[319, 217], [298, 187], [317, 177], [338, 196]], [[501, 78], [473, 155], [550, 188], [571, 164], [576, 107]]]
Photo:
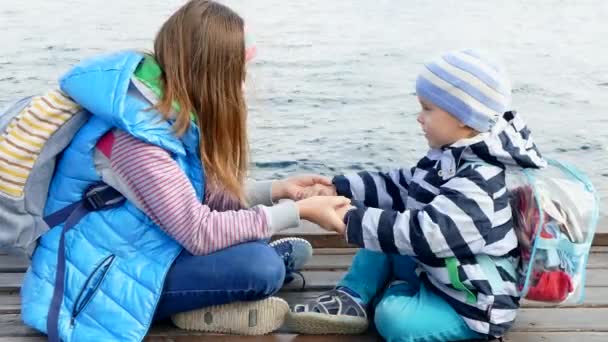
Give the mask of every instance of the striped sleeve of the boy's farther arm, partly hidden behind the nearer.
[[411, 169], [362, 171], [336, 176], [333, 184], [338, 195], [361, 201], [368, 207], [403, 211], [411, 179]]

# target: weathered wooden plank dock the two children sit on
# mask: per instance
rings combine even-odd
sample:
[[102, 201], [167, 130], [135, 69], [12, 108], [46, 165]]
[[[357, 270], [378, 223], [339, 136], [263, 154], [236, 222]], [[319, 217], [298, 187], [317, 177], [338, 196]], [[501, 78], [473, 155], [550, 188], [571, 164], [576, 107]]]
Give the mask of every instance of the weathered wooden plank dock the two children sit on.
[[[298, 280], [281, 290], [280, 297], [288, 302], [301, 302], [313, 298], [320, 292], [332, 288], [347, 271], [355, 248], [347, 246], [335, 234], [305, 226], [287, 231], [282, 235], [299, 236], [311, 241], [315, 247], [313, 260], [303, 270], [306, 289], [300, 290]], [[278, 238], [278, 237], [276, 237]], [[46, 337], [26, 327], [21, 322], [19, 289], [27, 260], [13, 256], [0, 256], [0, 342], [46, 341]], [[146, 341], [378, 341], [381, 338], [373, 331], [362, 336], [305, 336], [292, 334], [284, 329], [257, 337], [231, 335], [203, 335], [180, 330], [171, 325], [154, 326]], [[513, 330], [505, 341], [608, 341], [608, 231], [596, 234], [589, 258], [586, 300], [581, 305], [555, 308], [539, 303], [525, 302]]]

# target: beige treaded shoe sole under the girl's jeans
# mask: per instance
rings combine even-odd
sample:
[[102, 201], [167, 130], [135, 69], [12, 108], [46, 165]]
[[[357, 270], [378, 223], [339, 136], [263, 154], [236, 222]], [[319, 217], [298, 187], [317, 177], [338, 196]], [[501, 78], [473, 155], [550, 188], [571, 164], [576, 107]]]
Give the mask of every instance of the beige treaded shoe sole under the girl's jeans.
[[254, 302], [210, 306], [173, 315], [181, 329], [209, 333], [264, 335], [283, 325], [289, 305], [281, 298], [270, 297]]

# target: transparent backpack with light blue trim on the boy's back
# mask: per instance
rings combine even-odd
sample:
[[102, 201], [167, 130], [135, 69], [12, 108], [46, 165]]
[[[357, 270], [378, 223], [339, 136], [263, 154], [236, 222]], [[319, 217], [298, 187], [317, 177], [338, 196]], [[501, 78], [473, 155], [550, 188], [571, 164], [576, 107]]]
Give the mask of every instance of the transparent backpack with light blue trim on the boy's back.
[[585, 270], [599, 219], [599, 196], [572, 165], [548, 160], [544, 169], [507, 172], [521, 296], [528, 300], [580, 303]]

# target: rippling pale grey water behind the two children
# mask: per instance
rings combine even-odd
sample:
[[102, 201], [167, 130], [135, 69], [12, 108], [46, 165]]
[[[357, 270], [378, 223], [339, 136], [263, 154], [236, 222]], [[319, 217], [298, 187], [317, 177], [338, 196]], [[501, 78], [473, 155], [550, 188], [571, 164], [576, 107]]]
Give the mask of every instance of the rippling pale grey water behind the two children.
[[[0, 107], [56, 85], [83, 57], [149, 49], [177, 0], [0, 4]], [[502, 57], [541, 151], [608, 194], [608, 1], [232, 0], [259, 49], [248, 81], [256, 178], [411, 165], [421, 63]], [[604, 201], [603, 212], [608, 212]]]

